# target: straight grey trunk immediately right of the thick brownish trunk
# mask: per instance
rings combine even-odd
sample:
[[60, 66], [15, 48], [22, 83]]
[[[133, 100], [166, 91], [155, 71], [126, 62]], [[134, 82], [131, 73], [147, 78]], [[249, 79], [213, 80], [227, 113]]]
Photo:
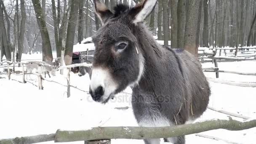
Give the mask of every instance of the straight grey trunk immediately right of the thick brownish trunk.
[[203, 47], [209, 47], [209, 31], [208, 31], [208, 9], [209, 0], [203, 0]]

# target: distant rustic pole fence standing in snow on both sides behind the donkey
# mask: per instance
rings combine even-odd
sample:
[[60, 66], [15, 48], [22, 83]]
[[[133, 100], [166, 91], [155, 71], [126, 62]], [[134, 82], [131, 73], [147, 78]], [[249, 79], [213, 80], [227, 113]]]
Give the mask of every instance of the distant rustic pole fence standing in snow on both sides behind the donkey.
[[[201, 50], [199, 50], [201, 51]], [[234, 71], [226, 71], [226, 70], [220, 70], [219, 67], [218, 67], [218, 62], [217, 60], [231, 60], [231, 61], [244, 61], [244, 60], [256, 60], [256, 59], [245, 59], [245, 58], [231, 58], [231, 57], [216, 57], [214, 56], [214, 53], [203, 53], [205, 54], [205, 56], [208, 55], [208, 57], [204, 58], [204, 59], [212, 59], [211, 61], [214, 63], [214, 66], [215, 67], [207, 67], [207, 68], [203, 68], [203, 71], [204, 72], [215, 72], [216, 73], [216, 78], [219, 78], [219, 72], [225, 72], [225, 73], [233, 73], [233, 74], [239, 74], [239, 75], [256, 75], [256, 72], [255, 73], [249, 73], [249, 72], [234, 72]], [[92, 55], [86, 55], [86, 56], [92, 56]], [[29, 59], [27, 59], [29, 60]], [[40, 59], [42, 60], [42, 59]], [[25, 60], [22, 60], [22, 61], [25, 61]], [[37, 67], [37, 71], [38, 73], [35, 73], [35, 72], [25, 72], [24, 71], [24, 67], [27, 65], [27, 64], [37, 64], [38, 67]], [[4, 65], [3, 65], [4, 64]], [[21, 68], [22, 68], [22, 71], [18, 74], [16, 72], [11, 72], [11, 69], [10, 67], [15, 67], [15, 64], [21, 64]], [[21, 80], [21, 83], [26, 83], [26, 80], [25, 80], [25, 76], [24, 75], [28, 75], [28, 74], [32, 74], [32, 75], [37, 75], [38, 77], [38, 88], [39, 89], [43, 89], [43, 85], [42, 85], [42, 81], [44, 80], [43, 77], [42, 77], [42, 74], [45, 74], [46, 70], [45, 71], [41, 71], [40, 72], [40, 69], [39, 67], [51, 67], [53, 69], [56, 69], [56, 70], [60, 70], [60, 69], [68, 69], [68, 72], [67, 72], [67, 96], [69, 97], [70, 96], [70, 87], [72, 87], [70, 85], [70, 74], [69, 74], [69, 71], [70, 69], [69, 68], [72, 68], [72, 67], [91, 67], [92, 64], [88, 64], [86, 62], [84, 63], [80, 63], [80, 64], [71, 64], [71, 65], [67, 65], [67, 66], [60, 66], [60, 67], [56, 67], [56, 66], [52, 66], [50, 64], [47, 64], [46, 62], [43, 62], [43, 61], [27, 61], [27, 62], [19, 62], [19, 61], [16, 61], [16, 62], [11, 62], [11, 61], [3, 61], [3, 62], [0, 62], [0, 67], [5, 67], [7, 68], [7, 75], [8, 75], [8, 79], [10, 80], [10, 77], [11, 77], [11, 74], [13, 75], [22, 75], [22, 80]], [[13, 65], [13, 66], [11, 66]], [[24, 66], [25, 65], [25, 66]], [[42, 70], [42, 69], [41, 69]], [[45, 79], [46, 80], [46, 79]], [[245, 82], [233, 82], [233, 81], [226, 81], [226, 80], [213, 80], [213, 79], [209, 79], [210, 81], [213, 81], [215, 83], [224, 83], [224, 84], [228, 84], [228, 85], [237, 85], [237, 86], [245, 86], [245, 87], [255, 87], [255, 83], [245, 83]], [[66, 85], [65, 85], [66, 86]]]

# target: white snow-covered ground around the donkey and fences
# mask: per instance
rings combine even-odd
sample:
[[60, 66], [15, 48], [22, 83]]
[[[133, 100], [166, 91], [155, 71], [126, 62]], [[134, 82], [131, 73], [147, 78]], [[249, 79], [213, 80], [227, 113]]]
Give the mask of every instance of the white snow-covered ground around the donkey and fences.
[[[23, 59], [40, 59], [41, 54], [24, 55]], [[212, 63], [205, 63], [203, 67], [213, 67]], [[220, 62], [219, 69], [238, 72], [256, 72], [256, 61]], [[0, 68], [0, 71], [3, 71]], [[205, 72], [207, 77], [215, 77], [214, 72]], [[256, 82], [256, 76], [245, 76], [220, 73], [220, 79]], [[55, 133], [57, 129], [76, 130], [97, 126], [138, 126], [131, 108], [131, 96], [126, 93], [118, 94], [114, 100], [103, 105], [94, 102], [88, 94], [90, 79], [88, 74], [79, 77], [71, 74], [71, 97], [67, 98], [65, 75], [47, 78], [57, 83], [43, 81], [44, 90], [38, 90], [37, 78], [29, 80], [34, 83], [19, 83], [21, 76], [11, 75], [0, 79], [0, 139], [17, 136], [33, 136], [37, 134]], [[32, 77], [33, 78], [33, 77]], [[209, 106], [229, 112], [245, 115], [256, 119], [256, 88], [239, 87], [211, 83], [211, 99]], [[131, 88], [125, 90], [131, 93]], [[129, 109], [118, 110], [115, 107]], [[228, 119], [227, 115], [210, 109], [197, 120]], [[243, 119], [232, 117], [235, 120]], [[227, 131], [223, 129], [203, 132], [201, 134], [215, 136], [226, 141], [207, 139], [195, 134], [186, 136], [186, 144], [255, 144], [256, 128], [243, 131]], [[51, 142], [45, 142], [53, 144]], [[83, 141], [72, 144], [83, 144]], [[112, 144], [144, 144], [142, 140], [113, 139]]]

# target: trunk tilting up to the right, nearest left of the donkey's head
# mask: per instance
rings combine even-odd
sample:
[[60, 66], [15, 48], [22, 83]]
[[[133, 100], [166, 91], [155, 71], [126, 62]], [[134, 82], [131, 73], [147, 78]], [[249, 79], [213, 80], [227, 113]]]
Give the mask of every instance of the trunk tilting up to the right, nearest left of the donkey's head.
[[67, 39], [66, 39], [66, 46], [65, 46], [65, 54], [64, 54], [64, 61], [66, 65], [72, 64], [72, 53], [73, 53], [73, 45], [75, 39], [75, 27], [77, 24], [77, 17], [78, 17], [78, 0], [70, 0], [71, 8], [69, 14], [69, 23], [67, 26]]

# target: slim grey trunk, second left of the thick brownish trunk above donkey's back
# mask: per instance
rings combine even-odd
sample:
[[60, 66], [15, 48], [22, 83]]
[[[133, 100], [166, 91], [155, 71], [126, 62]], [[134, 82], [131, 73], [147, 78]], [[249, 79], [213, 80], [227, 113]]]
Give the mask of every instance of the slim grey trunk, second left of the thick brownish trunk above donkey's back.
[[[171, 48], [178, 48], [177, 40], [177, 3], [176, 0], [171, 1]], [[166, 19], [166, 17], [164, 17]], [[164, 29], [165, 30], [165, 29]]]

